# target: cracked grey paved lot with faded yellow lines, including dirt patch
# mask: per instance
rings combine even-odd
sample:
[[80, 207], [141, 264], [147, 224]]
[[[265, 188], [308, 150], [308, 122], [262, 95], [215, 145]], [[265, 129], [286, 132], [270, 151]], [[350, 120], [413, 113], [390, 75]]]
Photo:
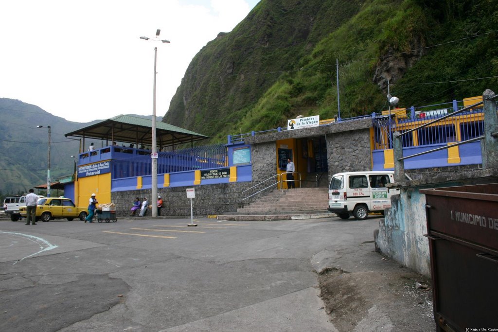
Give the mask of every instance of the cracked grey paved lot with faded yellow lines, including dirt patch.
[[378, 219], [195, 221], [0, 221], [0, 331], [435, 330]]

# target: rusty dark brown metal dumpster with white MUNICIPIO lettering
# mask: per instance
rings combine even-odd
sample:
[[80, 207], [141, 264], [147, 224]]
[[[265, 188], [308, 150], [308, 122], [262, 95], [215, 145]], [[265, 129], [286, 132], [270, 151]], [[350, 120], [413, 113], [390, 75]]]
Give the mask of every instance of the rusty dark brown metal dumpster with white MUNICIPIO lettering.
[[498, 184], [420, 192], [437, 331], [498, 331]]

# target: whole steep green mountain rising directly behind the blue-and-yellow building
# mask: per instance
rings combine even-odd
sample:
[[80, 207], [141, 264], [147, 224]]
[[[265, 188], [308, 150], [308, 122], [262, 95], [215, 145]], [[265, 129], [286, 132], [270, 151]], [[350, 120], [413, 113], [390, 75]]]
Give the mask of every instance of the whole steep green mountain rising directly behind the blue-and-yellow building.
[[194, 57], [163, 121], [227, 134], [498, 90], [498, 0], [261, 0]]

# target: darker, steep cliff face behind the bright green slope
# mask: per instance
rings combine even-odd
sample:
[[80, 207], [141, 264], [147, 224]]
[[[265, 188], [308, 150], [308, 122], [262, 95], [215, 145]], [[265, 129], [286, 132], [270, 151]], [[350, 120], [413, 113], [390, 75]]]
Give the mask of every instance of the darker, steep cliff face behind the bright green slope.
[[262, 0], [194, 57], [163, 121], [207, 135], [238, 122], [363, 2]]

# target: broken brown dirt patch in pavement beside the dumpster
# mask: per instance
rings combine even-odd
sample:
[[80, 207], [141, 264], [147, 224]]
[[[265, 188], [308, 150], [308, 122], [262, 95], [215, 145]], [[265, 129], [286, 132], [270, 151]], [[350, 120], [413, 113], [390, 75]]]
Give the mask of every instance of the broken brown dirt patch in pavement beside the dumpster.
[[320, 297], [333, 325], [343, 331], [435, 331], [431, 282], [373, 253], [378, 268], [318, 276]]

